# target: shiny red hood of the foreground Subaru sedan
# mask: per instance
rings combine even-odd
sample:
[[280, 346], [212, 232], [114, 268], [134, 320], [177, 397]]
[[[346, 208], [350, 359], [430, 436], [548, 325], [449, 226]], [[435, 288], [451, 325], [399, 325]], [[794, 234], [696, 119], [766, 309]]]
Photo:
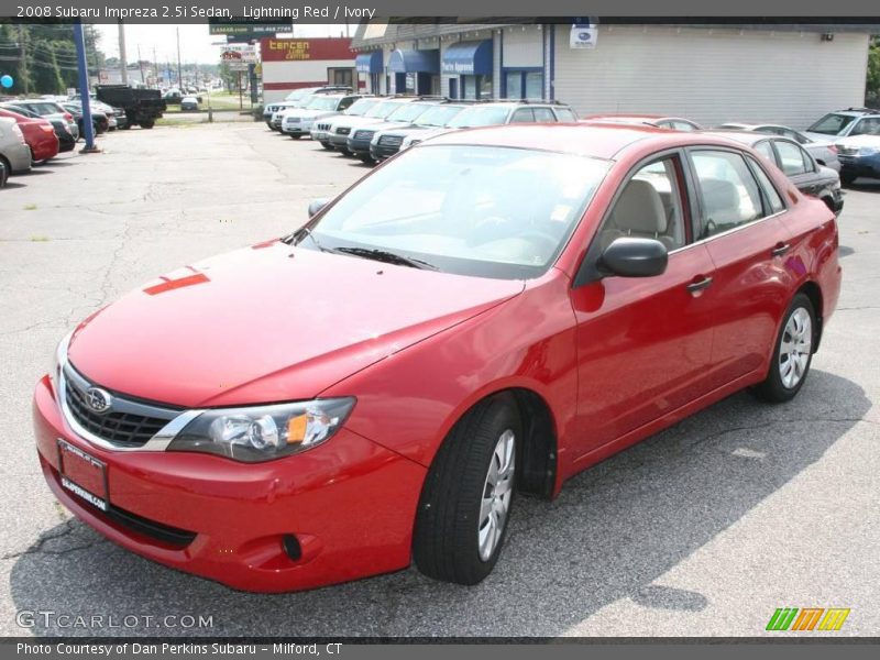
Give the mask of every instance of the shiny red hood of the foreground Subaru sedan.
[[177, 406], [309, 399], [522, 288], [271, 241], [129, 293], [68, 356], [108, 389]]

